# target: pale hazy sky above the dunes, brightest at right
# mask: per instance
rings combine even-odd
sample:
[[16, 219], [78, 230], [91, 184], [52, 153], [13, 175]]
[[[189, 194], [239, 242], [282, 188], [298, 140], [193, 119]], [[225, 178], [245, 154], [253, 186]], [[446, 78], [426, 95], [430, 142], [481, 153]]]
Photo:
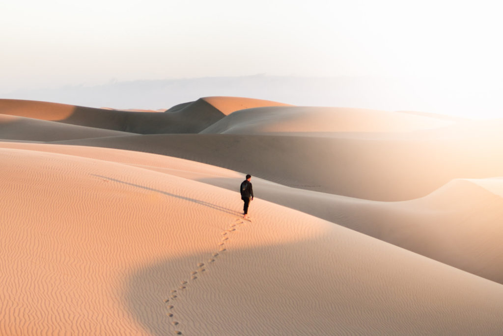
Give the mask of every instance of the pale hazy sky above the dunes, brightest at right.
[[138, 80], [378, 77], [450, 87], [498, 116], [497, 99], [481, 100], [503, 88], [501, 9], [487, 0], [6, 0], [0, 98]]

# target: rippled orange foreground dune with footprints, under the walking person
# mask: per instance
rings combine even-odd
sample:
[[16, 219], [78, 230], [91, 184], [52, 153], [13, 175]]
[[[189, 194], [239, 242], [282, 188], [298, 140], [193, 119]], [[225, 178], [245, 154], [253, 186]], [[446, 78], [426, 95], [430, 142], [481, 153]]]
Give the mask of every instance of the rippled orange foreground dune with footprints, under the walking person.
[[243, 222], [236, 192], [196, 181], [71, 155], [0, 156], [2, 334], [503, 328], [501, 285], [295, 210], [257, 199]]

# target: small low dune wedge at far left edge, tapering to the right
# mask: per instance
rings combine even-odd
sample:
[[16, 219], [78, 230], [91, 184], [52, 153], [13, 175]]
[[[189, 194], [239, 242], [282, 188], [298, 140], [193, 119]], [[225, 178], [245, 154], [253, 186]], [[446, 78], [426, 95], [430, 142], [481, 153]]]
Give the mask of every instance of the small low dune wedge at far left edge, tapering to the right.
[[131, 133], [0, 115], [0, 139], [3, 140], [58, 141], [124, 135]]

